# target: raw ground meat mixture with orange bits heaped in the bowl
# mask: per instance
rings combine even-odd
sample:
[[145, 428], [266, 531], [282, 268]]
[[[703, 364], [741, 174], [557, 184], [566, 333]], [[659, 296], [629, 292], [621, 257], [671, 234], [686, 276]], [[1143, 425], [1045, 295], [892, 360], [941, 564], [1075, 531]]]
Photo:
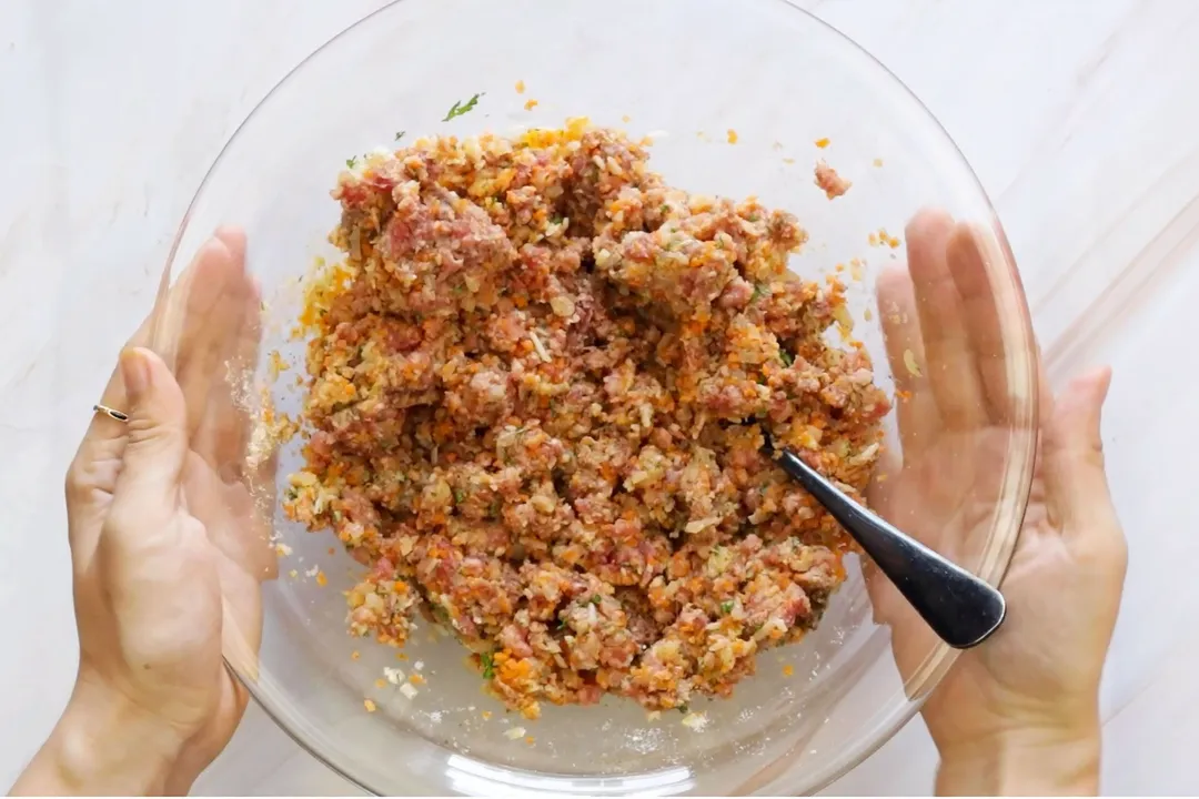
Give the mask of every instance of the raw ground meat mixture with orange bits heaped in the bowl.
[[793, 216], [583, 121], [421, 139], [333, 196], [285, 508], [369, 567], [354, 634], [423, 612], [532, 718], [724, 696], [815, 627], [851, 544], [763, 428], [860, 500], [888, 404], [826, 335], [843, 287], [785, 271]]

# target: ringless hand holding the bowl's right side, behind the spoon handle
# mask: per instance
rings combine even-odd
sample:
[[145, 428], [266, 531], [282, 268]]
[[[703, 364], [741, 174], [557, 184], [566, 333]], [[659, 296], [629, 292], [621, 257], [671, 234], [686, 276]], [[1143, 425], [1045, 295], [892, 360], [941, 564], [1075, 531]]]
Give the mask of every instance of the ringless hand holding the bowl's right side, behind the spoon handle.
[[[903, 464], [870, 501], [938, 551], [977, 564], [1011, 479], [1005, 453], [1020, 436], [1037, 446], [1001, 586], [1007, 619], [958, 658], [923, 708], [941, 755], [938, 791], [1095, 793], [1099, 677], [1127, 562], [1099, 438], [1110, 373], [1077, 380], [1056, 399], [1042, 391], [1037, 436], [1018, 418], [986, 237], [923, 212], [906, 238], [909, 270], [888, 271], [879, 285], [891, 370], [908, 398], [898, 404]], [[868, 586], [909, 679], [930, 631], [885, 579], [869, 574]]]

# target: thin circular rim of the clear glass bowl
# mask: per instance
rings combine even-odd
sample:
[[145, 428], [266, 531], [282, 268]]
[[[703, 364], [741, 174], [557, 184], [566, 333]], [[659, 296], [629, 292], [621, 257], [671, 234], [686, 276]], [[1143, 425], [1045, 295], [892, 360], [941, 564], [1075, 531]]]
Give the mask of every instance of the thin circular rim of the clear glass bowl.
[[[200, 180], [199, 186], [197, 187], [194, 194], [192, 195], [192, 199], [188, 201], [187, 208], [185, 210], [183, 216], [180, 219], [179, 226], [173, 237], [170, 249], [167, 253], [163, 276], [157, 289], [155, 307], [151, 314], [152, 341], [162, 340], [159, 333], [162, 332], [162, 327], [165, 321], [164, 320], [165, 315], [159, 311], [161, 309], [167, 307], [167, 303], [164, 301], [167, 297], [167, 292], [170, 287], [171, 267], [173, 265], [176, 264], [176, 259], [180, 255], [179, 249], [188, 230], [188, 224], [191, 222], [192, 213], [195, 210], [198, 202], [200, 201], [200, 198], [203, 196], [205, 188], [209, 186], [210, 180], [216, 174], [217, 169], [221, 167], [222, 161], [224, 159], [229, 147], [237, 139], [239, 134], [246, 126], [248, 126], [254, 120], [254, 117], [259, 114], [259, 111], [263, 110], [263, 108], [271, 101], [271, 98], [279, 91], [279, 89], [284, 84], [287, 84], [294, 75], [296, 75], [301, 69], [303, 69], [311, 61], [315, 60], [318, 56], [325, 53], [326, 49], [335, 46], [337, 42], [339, 42], [342, 38], [355, 31], [361, 25], [367, 24], [375, 17], [386, 14], [388, 11], [391, 11], [396, 6], [399, 6], [405, 0], [387, 0], [380, 7], [375, 8], [374, 11], [364, 14], [363, 17], [347, 25], [344, 29], [342, 29], [341, 31], [331, 36], [329, 40], [326, 40], [318, 48], [315, 48], [312, 53], [306, 55], [299, 62], [296, 62], [295, 66], [289, 68], [287, 73], [284, 73], [275, 83], [275, 85], [272, 85], [271, 89], [254, 104], [254, 107], [249, 110], [246, 117], [236, 126], [236, 128], [234, 128], [233, 133], [229, 134], [228, 139], [225, 139], [225, 143], [221, 146], [219, 152], [212, 161], [212, 164], [204, 172], [204, 177]], [[1014, 309], [1018, 310], [1019, 314], [1016, 321], [1018, 321], [1019, 332], [1024, 337], [1026, 343], [1035, 346], [1036, 338], [1032, 331], [1031, 309], [1029, 308], [1028, 299], [1024, 293], [1024, 287], [1019, 278], [1016, 259], [1011, 250], [1011, 246], [1007, 241], [1002, 225], [999, 222], [999, 217], [995, 212], [994, 204], [992, 202], [990, 196], [987, 194], [987, 190], [983, 187], [982, 182], [978, 180], [978, 176], [975, 172], [974, 168], [970, 165], [970, 162], [962, 152], [962, 149], [958, 146], [953, 137], [950, 135], [948, 131], [945, 129], [944, 125], [941, 125], [941, 121], [936, 117], [936, 115], [933, 114], [933, 111], [923, 103], [923, 101], [920, 99], [920, 97], [908, 86], [908, 84], [905, 84], [894, 72], [892, 72], [885, 63], [882, 63], [873, 53], [867, 50], [864, 47], [858, 44], [852, 37], [844, 34], [831, 23], [821, 19], [815, 13], [801, 7], [799, 5], [799, 0], [757, 0], [757, 1], [763, 4], [785, 6], [787, 8], [799, 12], [800, 14], [807, 17], [809, 23], [814, 23], [817, 28], [824, 29], [825, 32], [839, 38], [844, 44], [848, 44], [852, 50], [856, 50], [857, 55], [863, 56], [868, 63], [873, 65], [874, 71], [876, 71], [880, 77], [885, 77], [886, 79], [888, 79], [892, 86], [894, 89], [898, 89], [900, 93], [903, 93], [906, 97], [908, 102], [910, 102], [914, 105], [914, 108], [923, 111], [926, 122], [932, 123], [935, 131], [940, 133], [940, 137], [942, 138], [944, 143], [948, 145], [950, 151], [957, 157], [960, 168], [964, 170], [963, 178], [966, 178], [968, 182], [974, 184], [974, 188], [977, 192], [978, 198], [982, 199], [982, 201], [986, 205], [986, 208], [992, 214], [990, 232], [994, 234], [998, 240], [996, 244], [999, 248], [999, 255], [1004, 262], [1004, 266], [1006, 266], [1005, 271], [1007, 273], [1007, 277], [1012, 282], [1011, 287], [1013, 290], [1013, 297], [1017, 301], [1014, 303]], [[173, 358], [169, 358], [168, 363], [173, 364], [174, 363]], [[1038, 374], [1038, 370], [1035, 368], [1035, 365], [1030, 370], [1028, 380], [1030, 383], [1029, 388], [1031, 389], [1031, 395], [1036, 398], [1040, 392], [1040, 383], [1042, 377]], [[1035, 401], [1034, 399], [1031, 401], [1030, 413], [1029, 413], [1029, 422], [1032, 425], [1031, 429], [1034, 430], [1040, 428], [1038, 410], [1040, 410], [1038, 402]], [[1011, 495], [1018, 503], [1018, 510], [1012, 519], [1012, 523], [1016, 526], [1016, 533], [1010, 535], [1008, 539], [1004, 541], [1001, 546], [998, 547], [998, 550], [993, 546], [992, 541], [989, 540], [990, 538], [993, 538], [993, 535], [989, 537], [987, 543], [987, 549], [984, 550], [984, 553], [989, 555], [990, 557], [984, 558], [981, 565], [982, 567], [990, 565], [992, 568], [990, 569], [981, 568], [980, 571], [986, 574], [980, 574], [980, 576], [988, 580], [995, 586], [1001, 585], [1004, 577], [1006, 576], [1008, 567], [1011, 565], [1012, 555], [1016, 551], [1016, 546], [1019, 541], [1024, 515], [1028, 509], [1028, 500], [1031, 494], [1034, 459], [1035, 459], [1035, 447], [1030, 447], [1028, 456], [1025, 458], [1026, 462], [1023, 466], [1018, 466], [1019, 471], [1017, 476], [1018, 483], [1016, 486], [1016, 491]], [[912, 676], [904, 679], [903, 682], [904, 691], [909, 698], [906, 704], [892, 712], [890, 714], [890, 718], [881, 720], [874, 727], [869, 743], [861, 746], [860, 750], [857, 750], [856, 752], [854, 752], [848, 757], [830, 763], [827, 767], [818, 769], [815, 771], [815, 779], [812, 780], [809, 785], [805, 786], [805, 789], [807, 791], [806, 795], [812, 795], [819, 793], [820, 791], [824, 791], [830, 785], [845, 776], [849, 771], [857, 768], [861, 763], [863, 763], [867, 758], [869, 758], [879, 749], [881, 749], [884, 744], [891, 740], [891, 738], [893, 738], [904, 726], [906, 726], [908, 722], [911, 721], [911, 719], [916, 715], [916, 713], [918, 713], [922, 709], [923, 703], [927, 700], [928, 695], [932, 694], [932, 691], [935, 690], [935, 688], [940, 684], [941, 679], [944, 679], [945, 674], [953, 666], [953, 664], [957, 661], [957, 658], [960, 654], [962, 653], [959, 650], [953, 649], [944, 641], [938, 641], [933, 646], [932, 652], [929, 652], [929, 654], [926, 656], [924, 661], [916, 670], [914, 670]], [[359, 789], [363, 791], [364, 793], [369, 795], [385, 795], [384, 793], [376, 791], [374, 787], [372, 787], [370, 785], [366, 783], [363, 780], [357, 777], [355, 774], [351, 774], [347, 769], [342, 768], [339, 764], [335, 763], [327, 755], [320, 751], [319, 746], [308, 743], [296, 731], [294, 731], [293, 727], [283, 720], [283, 714], [276, 710], [271, 700], [266, 696], [267, 691], [264, 691], [257, 685], [257, 679], [243, 676], [236, 667], [234, 667], [228, 655], [224, 656], [224, 666], [225, 670], [246, 688], [249, 696], [253, 697], [254, 703], [259, 708], [261, 708], [261, 710], [271, 719], [271, 721], [277, 727], [279, 727], [279, 730], [282, 730], [284, 734], [287, 734], [288, 738], [290, 738], [301, 750], [307, 752], [309, 756], [312, 756], [318, 762], [324, 764], [331, 771], [333, 771], [345, 781], [350, 782]], [[914, 698], [912, 695], [915, 691], [921, 691], [921, 695], [915, 696]], [[459, 757], [462, 756], [459, 755]], [[526, 769], [507, 768], [506, 770], [517, 774], [538, 774], [538, 776], [546, 776], [548, 779], [552, 779], [550, 775], [542, 775], [540, 773], [529, 771]], [[754, 781], [754, 776], [757, 775], [752, 775], [746, 781], [743, 781], [739, 787], [743, 787], [746, 785], [752, 783]], [[785, 780], [787, 777], [788, 773], [787, 769], [784, 768], [782, 773], [777, 774], [772, 780], [767, 780], [763, 783], [754, 786], [752, 794], [759, 794], [764, 792], [777, 793], [776, 788], [779, 787], [778, 783]], [[525, 789], [528, 791], [528, 788]]]

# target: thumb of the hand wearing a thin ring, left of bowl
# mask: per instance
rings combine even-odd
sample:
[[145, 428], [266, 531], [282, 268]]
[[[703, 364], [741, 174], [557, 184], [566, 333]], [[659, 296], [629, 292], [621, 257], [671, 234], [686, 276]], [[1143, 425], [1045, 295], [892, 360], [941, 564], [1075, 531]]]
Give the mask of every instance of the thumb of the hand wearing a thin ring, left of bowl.
[[126, 350], [120, 369], [129, 400], [128, 443], [113, 503], [128, 503], [134, 514], [156, 510], [164, 501], [174, 508], [187, 460], [183, 392], [150, 350]]

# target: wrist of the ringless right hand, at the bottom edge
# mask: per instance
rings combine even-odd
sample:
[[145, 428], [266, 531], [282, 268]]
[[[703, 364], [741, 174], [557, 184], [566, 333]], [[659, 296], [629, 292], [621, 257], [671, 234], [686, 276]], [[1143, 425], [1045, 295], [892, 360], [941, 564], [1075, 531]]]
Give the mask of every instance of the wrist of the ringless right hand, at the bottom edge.
[[1025, 727], [945, 746], [939, 795], [1096, 795], [1098, 719], [1068, 727]]

